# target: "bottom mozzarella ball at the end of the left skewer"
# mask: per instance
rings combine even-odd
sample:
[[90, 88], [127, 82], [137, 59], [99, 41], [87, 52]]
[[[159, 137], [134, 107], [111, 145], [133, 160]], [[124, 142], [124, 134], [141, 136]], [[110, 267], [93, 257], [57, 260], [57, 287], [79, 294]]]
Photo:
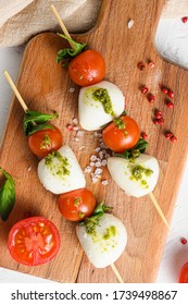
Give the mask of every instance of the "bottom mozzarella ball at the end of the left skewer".
[[124, 252], [127, 232], [123, 222], [113, 215], [104, 213], [93, 234], [85, 225], [76, 225], [76, 234], [89, 259], [96, 268], [113, 264]]

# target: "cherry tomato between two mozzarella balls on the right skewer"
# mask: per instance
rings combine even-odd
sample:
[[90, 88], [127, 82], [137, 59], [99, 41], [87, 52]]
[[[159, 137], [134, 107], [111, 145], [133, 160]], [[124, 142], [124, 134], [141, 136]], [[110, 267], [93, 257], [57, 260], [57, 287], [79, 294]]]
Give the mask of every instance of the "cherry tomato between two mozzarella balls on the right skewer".
[[102, 131], [102, 138], [106, 147], [115, 152], [123, 152], [133, 148], [140, 137], [137, 122], [128, 115], [114, 119]]

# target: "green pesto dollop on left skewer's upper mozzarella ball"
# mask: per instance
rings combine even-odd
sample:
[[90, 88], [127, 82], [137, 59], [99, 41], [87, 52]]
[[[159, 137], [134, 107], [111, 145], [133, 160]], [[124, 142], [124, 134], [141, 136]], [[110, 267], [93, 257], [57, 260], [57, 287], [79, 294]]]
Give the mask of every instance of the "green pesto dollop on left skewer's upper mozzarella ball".
[[60, 179], [64, 179], [66, 175], [70, 175], [68, 160], [59, 151], [48, 154], [47, 157], [45, 157], [45, 164], [53, 175], [58, 175]]

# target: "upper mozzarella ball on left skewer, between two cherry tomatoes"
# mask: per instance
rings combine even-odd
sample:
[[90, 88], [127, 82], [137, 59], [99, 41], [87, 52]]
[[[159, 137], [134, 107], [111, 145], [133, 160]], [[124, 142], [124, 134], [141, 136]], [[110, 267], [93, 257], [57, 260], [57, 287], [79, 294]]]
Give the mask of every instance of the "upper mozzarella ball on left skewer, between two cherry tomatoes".
[[79, 163], [73, 150], [66, 145], [40, 160], [38, 178], [53, 194], [63, 194], [86, 186]]

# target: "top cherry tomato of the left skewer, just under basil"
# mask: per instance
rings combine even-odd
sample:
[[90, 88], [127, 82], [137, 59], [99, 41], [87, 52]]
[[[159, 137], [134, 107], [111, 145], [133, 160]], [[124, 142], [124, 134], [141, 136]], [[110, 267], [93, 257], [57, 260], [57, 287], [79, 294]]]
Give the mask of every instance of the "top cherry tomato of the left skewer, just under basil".
[[43, 158], [62, 146], [63, 136], [61, 131], [54, 125], [52, 127], [53, 130], [38, 131], [28, 137], [28, 147], [39, 158]]

